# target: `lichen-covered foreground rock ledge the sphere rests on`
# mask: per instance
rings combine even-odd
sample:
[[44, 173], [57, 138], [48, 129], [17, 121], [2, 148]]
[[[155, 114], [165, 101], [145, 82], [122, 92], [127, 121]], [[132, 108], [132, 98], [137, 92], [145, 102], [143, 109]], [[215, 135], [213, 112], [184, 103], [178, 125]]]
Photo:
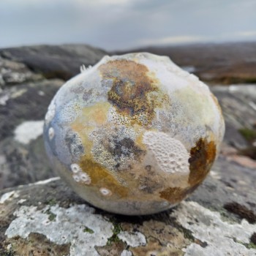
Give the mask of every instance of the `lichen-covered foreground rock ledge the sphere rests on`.
[[[256, 217], [241, 205], [247, 200], [253, 206], [249, 179], [255, 173], [237, 187], [237, 195], [231, 184], [223, 185], [225, 177], [220, 180], [225, 165], [227, 175], [231, 170], [238, 178], [241, 168], [236, 173], [235, 164], [219, 159], [189, 200], [143, 217], [89, 206], [59, 177], [5, 189], [0, 194], [0, 255], [256, 255]], [[228, 202], [235, 200], [233, 207], [240, 207], [246, 219], [229, 212]]]

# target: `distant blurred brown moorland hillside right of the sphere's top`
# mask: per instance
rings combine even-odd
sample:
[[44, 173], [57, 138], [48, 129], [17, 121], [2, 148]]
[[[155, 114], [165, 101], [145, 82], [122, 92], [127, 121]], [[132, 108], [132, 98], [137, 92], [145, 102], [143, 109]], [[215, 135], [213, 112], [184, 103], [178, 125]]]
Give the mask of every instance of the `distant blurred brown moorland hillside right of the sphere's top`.
[[[211, 82], [255, 83], [256, 43], [227, 42], [222, 44], [174, 45], [133, 49], [170, 56], [179, 66]], [[127, 53], [121, 51], [118, 53]]]

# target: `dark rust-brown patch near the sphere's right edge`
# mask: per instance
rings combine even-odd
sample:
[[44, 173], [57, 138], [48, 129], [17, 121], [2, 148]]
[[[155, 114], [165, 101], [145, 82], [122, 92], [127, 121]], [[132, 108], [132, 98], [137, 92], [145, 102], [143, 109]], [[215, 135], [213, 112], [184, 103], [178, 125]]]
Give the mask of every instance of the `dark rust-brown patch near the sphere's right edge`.
[[214, 162], [216, 157], [216, 145], [214, 141], [207, 142], [206, 139], [200, 138], [196, 146], [190, 150], [189, 158], [189, 184], [195, 186], [200, 184]]

